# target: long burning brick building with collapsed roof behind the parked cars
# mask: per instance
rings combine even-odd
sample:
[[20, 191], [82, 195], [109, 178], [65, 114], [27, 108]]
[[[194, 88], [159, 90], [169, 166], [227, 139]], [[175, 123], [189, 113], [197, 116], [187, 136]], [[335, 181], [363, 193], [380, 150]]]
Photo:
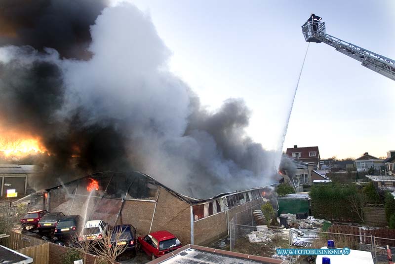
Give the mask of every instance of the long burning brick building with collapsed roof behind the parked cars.
[[184, 244], [202, 245], [228, 234], [229, 220], [269, 201], [272, 186], [221, 193], [209, 199], [180, 194], [140, 172], [103, 172], [46, 189], [47, 210], [132, 224], [139, 234], [168, 230]]

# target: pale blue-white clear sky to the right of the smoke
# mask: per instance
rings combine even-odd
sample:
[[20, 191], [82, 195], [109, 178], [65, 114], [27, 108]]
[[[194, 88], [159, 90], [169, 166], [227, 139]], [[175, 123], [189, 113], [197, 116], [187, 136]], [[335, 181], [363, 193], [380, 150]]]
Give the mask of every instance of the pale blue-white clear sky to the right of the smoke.
[[[171, 50], [171, 72], [215, 111], [242, 98], [249, 135], [280, 148], [308, 43], [310, 13], [326, 33], [395, 59], [394, 0], [129, 0]], [[117, 4], [118, 0], [113, 0]], [[395, 82], [324, 43], [311, 43], [283, 150], [318, 146], [321, 158], [395, 150]]]

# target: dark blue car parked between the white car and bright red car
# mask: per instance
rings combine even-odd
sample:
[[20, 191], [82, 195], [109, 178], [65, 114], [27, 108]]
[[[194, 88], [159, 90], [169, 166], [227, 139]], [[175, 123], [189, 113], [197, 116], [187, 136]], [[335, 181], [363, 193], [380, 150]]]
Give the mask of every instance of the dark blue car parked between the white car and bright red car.
[[113, 246], [125, 245], [126, 250], [133, 250], [136, 252], [136, 228], [132, 225], [114, 226], [113, 230], [111, 231], [110, 241]]

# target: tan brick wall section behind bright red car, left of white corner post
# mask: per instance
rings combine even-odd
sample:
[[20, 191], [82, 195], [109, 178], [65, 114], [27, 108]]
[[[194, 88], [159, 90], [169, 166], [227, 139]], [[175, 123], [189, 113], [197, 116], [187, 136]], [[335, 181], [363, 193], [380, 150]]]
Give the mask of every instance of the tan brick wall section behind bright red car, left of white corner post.
[[[151, 215], [152, 216], [152, 215]], [[191, 242], [191, 208], [188, 203], [161, 188], [151, 231], [167, 230], [183, 245]]]

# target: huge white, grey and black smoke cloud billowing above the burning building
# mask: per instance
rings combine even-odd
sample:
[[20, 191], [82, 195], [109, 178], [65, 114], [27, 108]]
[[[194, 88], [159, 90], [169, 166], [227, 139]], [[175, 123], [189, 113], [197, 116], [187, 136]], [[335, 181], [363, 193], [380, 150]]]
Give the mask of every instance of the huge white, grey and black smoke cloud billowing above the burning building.
[[134, 169], [197, 198], [273, 183], [279, 156], [246, 135], [244, 102], [200, 106], [135, 6], [17, 2], [1, 6], [0, 43], [18, 46], [0, 47], [0, 126], [41, 138], [52, 179]]

